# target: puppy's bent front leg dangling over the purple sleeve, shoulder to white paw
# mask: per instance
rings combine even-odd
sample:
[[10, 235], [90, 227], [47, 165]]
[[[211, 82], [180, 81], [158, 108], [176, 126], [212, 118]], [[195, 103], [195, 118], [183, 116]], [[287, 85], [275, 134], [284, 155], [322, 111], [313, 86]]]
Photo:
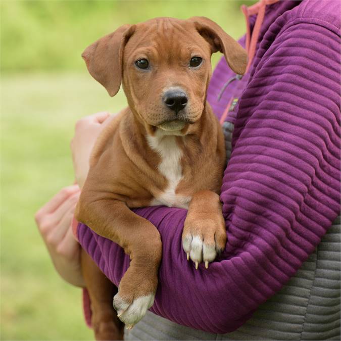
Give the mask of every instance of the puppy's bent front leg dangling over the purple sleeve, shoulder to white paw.
[[162, 255], [159, 231], [119, 200], [96, 199], [93, 192], [82, 198], [82, 194], [76, 219], [118, 243], [130, 256], [130, 265], [121, 279], [114, 306], [120, 320], [131, 328], [154, 303]]

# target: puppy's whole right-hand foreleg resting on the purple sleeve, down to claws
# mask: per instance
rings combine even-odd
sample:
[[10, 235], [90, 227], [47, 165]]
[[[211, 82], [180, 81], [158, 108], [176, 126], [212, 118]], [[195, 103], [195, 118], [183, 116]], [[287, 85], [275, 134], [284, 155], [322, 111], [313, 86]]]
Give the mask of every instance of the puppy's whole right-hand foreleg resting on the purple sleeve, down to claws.
[[226, 245], [225, 220], [217, 193], [201, 190], [194, 194], [189, 203], [187, 217], [182, 232], [182, 247], [189, 258], [196, 263], [215, 260], [217, 253]]

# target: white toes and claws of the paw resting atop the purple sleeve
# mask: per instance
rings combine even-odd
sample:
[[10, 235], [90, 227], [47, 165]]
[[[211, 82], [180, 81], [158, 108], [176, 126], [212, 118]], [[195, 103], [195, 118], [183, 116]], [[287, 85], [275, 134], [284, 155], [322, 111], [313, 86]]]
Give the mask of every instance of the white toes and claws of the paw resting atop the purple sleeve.
[[187, 260], [190, 258], [196, 263], [196, 269], [203, 260], [207, 269], [209, 262], [214, 261], [217, 257], [216, 246], [205, 243], [199, 235], [187, 234], [182, 238], [182, 248], [187, 254]]

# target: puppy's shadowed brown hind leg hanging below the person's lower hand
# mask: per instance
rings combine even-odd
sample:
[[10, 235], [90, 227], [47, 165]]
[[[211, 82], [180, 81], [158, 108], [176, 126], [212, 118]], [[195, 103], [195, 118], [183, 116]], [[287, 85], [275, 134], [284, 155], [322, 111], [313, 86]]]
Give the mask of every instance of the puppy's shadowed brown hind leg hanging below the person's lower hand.
[[82, 250], [83, 277], [91, 300], [91, 324], [96, 340], [123, 340], [124, 325], [113, 307], [117, 287]]

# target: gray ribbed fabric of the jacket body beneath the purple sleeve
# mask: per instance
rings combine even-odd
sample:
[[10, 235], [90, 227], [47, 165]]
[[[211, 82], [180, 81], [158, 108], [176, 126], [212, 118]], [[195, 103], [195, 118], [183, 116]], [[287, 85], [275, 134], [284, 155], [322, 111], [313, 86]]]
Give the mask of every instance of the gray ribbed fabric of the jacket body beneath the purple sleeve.
[[[223, 124], [227, 159], [233, 124]], [[213, 334], [147, 312], [126, 340], [340, 340], [340, 217], [301, 269], [236, 331]]]

